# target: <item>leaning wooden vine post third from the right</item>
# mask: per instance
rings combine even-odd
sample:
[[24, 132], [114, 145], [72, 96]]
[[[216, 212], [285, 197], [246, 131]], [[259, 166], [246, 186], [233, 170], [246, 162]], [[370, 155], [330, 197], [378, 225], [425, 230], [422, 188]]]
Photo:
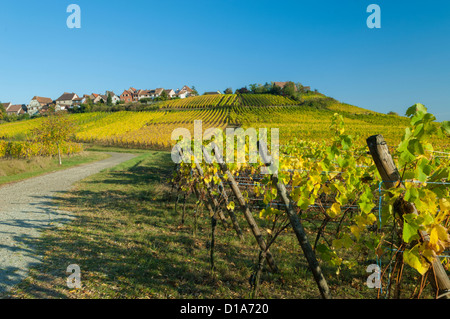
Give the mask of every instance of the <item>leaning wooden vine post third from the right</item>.
[[266, 242], [264, 241], [261, 230], [259, 229], [258, 224], [256, 223], [255, 219], [253, 218], [253, 215], [250, 212], [250, 209], [248, 208], [247, 203], [245, 202], [244, 196], [242, 196], [242, 193], [239, 190], [239, 186], [236, 183], [236, 180], [234, 179], [233, 174], [231, 174], [230, 170], [228, 169], [227, 164], [224, 162], [224, 160], [222, 158], [222, 154], [220, 153], [217, 145], [215, 145], [214, 143], [211, 143], [211, 145], [213, 146], [214, 156], [217, 160], [217, 163], [220, 166], [222, 174], [227, 176], [228, 182], [231, 186], [234, 196], [238, 200], [238, 203], [239, 203], [239, 206], [241, 207], [242, 213], [244, 214], [244, 217], [247, 220], [248, 225], [250, 226], [250, 229], [259, 245], [259, 248], [261, 249], [261, 251], [266, 252], [265, 257], [267, 260], [267, 264], [269, 265], [270, 269], [272, 269], [273, 272], [278, 272], [278, 267], [275, 264], [275, 260], [273, 259], [272, 253], [267, 249], [267, 245], [266, 245]]

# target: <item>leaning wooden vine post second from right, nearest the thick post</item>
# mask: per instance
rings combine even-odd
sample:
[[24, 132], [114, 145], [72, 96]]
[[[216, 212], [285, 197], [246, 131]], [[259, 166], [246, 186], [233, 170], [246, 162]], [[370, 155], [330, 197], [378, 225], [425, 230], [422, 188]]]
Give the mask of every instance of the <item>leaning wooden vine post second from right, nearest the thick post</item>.
[[[267, 157], [268, 154], [267, 145], [262, 141], [258, 141], [258, 148], [263, 163], [265, 163], [266, 165], [270, 165], [271, 161]], [[322, 269], [320, 268], [319, 262], [317, 261], [316, 258], [316, 254], [314, 253], [314, 250], [312, 249], [311, 244], [308, 241], [308, 237], [306, 236], [306, 232], [305, 229], [303, 228], [300, 218], [293, 209], [293, 202], [288, 197], [286, 186], [282, 181], [278, 179], [277, 172], [274, 172], [272, 174], [272, 182], [273, 184], [276, 185], [278, 195], [280, 196], [284, 206], [286, 207], [286, 213], [289, 216], [292, 229], [294, 230], [294, 233], [297, 236], [300, 247], [302, 248], [303, 253], [305, 254], [309, 268], [313, 273], [314, 279], [317, 283], [317, 286], [319, 287], [319, 291], [322, 298], [331, 299], [330, 289], [328, 288], [327, 281], [323, 276]]]

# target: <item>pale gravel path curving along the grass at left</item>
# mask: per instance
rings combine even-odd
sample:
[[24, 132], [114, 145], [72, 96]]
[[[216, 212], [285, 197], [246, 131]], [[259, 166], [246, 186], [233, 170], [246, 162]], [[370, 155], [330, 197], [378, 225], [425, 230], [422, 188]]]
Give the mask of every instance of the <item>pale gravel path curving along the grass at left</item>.
[[30, 267], [39, 264], [35, 241], [43, 229], [73, 219], [52, 204], [58, 193], [105, 168], [132, 159], [127, 153], [108, 153], [102, 161], [57, 171], [0, 187], [0, 293], [22, 281]]

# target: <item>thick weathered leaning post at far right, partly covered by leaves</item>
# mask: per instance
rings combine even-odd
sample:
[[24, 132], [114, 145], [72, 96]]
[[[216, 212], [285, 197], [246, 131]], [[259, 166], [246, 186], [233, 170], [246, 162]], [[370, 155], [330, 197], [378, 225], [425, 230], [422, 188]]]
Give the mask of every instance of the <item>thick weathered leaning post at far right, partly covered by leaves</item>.
[[[389, 148], [382, 135], [374, 135], [367, 139], [370, 154], [377, 166], [378, 172], [381, 175], [385, 188], [389, 189], [396, 186], [399, 182], [399, 187], [404, 188], [401, 184], [401, 176], [395, 166], [394, 160], [389, 153]], [[403, 201], [403, 200], [402, 200]], [[417, 209], [413, 203], [403, 201], [398, 205], [403, 211], [399, 212], [400, 216], [403, 214], [418, 214]], [[430, 236], [424, 231], [420, 231], [420, 235], [424, 241], [429, 241]], [[429, 280], [434, 290], [437, 293], [438, 299], [450, 299], [450, 279], [445, 272], [444, 267], [438, 258], [432, 262], [432, 271], [429, 272]]]

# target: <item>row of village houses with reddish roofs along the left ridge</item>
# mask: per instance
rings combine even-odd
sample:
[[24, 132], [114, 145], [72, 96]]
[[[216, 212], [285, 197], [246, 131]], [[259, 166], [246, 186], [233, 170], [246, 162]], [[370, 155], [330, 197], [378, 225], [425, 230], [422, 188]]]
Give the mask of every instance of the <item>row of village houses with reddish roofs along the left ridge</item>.
[[7, 115], [22, 115], [28, 113], [30, 116], [37, 114], [44, 114], [48, 112], [50, 108], [54, 108], [55, 111], [64, 111], [80, 107], [81, 104], [106, 104], [108, 97], [111, 99], [111, 104], [116, 105], [118, 103], [134, 103], [143, 99], [155, 100], [159, 97], [166, 96], [167, 98], [187, 98], [193, 96], [194, 91], [187, 85], [181, 89], [174, 91], [173, 89], [158, 88], [154, 90], [137, 90], [133, 87], [128, 90], [124, 90], [121, 95], [116, 95], [112, 91], [106, 91], [105, 94], [84, 94], [78, 96], [76, 93], [64, 92], [59, 98], [53, 100], [49, 97], [34, 96], [28, 105], [25, 104], [12, 104], [2, 103]]

